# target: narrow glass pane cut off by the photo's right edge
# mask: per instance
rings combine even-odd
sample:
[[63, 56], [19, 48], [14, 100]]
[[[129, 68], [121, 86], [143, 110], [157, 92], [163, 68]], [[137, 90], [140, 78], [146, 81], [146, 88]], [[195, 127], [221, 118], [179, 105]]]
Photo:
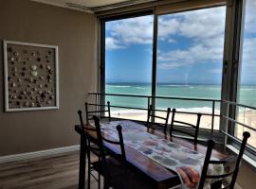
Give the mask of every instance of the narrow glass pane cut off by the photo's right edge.
[[[240, 73], [238, 101], [241, 104], [256, 107], [256, 1], [246, 1], [245, 28], [243, 33], [243, 54]], [[256, 129], [256, 111], [239, 108], [238, 121]], [[236, 126], [235, 135], [242, 139], [243, 131], [249, 131], [248, 144], [256, 146], [256, 133], [242, 126]]]

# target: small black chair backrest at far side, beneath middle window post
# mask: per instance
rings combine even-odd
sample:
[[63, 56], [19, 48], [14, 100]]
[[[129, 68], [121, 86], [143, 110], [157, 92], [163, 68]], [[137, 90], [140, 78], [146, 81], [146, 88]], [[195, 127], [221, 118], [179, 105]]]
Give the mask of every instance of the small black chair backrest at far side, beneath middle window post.
[[[147, 128], [151, 128], [152, 125], [157, 125], [157, 126], [159, 126], [159, 127], [162, 127], [163, 130], [164, 130], [164, 133], [166, 134], [166, 130], [167, 130], [167, 126], [168, 126], [168, 120], [169, 120], [169, 115], [170, 115], [171, 109], [170, 109], [170, 108], [167, 109], [167, 114], [166, 114], [165, 117], [155, 115], [155, 114], [153, 113], [153, 111], [155, 111], [155, 110], [153, 110], [153, 109], [152, 109], [152, 105], [150, 105], [150, 106], [149, 106], [149, 109], [148, 109]], [[164, 124], [161, 124], [161, 123], [152, 123], [152, 122], [150, 121], [150, 118], [152, 118], [152, 117], [164, 120]]]

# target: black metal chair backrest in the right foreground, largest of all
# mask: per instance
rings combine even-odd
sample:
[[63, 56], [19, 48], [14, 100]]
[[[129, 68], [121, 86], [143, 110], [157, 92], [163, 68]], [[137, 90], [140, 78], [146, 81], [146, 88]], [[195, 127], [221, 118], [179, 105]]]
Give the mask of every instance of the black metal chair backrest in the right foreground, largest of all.
[[[206, 158], [205, 158], [204, 166], [202, 169], [202, 174], [201, 174], [201, 179], [199, 182], [198, 189], [204, 188], [205, 180], [207, 180], [207, 179], [225, 179], [230, 176], [231, 176], [230, 182], [226, 186], [224, 186], [223, 189], [224, 188], [230, 188], [230, 189], [234, 188], [234, 184], [235, 184], [235, 181], [236, 181], [236, 178], [238, 175], [238, 171], [239, 171], [239, 165], [243, 158], [243, 154], [244, 154], [244, 151], [245, 151], [245, 148], [247, 145], [247, 139], [249, 138], [250, 134], [249, 134], [249, 132], [246, 131], [243, 133], [243, 136], [244, 137], [243, 137], [243, 141], [242, 141], [238, 156], [233, 156], [226, 160], [218, 160], [218, 161], [210, 160], [211, 151], [212, 151], [212, 148], [215, 143], [214, 143], [214, 141], [209, 140]], [[228, 173], [223, 173], [221, 175], [208, 175], [208, 168], [209, 168], [210, 164], [213, 164], [213, 165], [214, 164], [223, 164], [225, 166], [225, 164], [234, 163], [234, 162], [235, 162], [234, 168], [232, 170], [230, 170]], [[220, 189], [222, 189], [222, 188], [220, 188]]]

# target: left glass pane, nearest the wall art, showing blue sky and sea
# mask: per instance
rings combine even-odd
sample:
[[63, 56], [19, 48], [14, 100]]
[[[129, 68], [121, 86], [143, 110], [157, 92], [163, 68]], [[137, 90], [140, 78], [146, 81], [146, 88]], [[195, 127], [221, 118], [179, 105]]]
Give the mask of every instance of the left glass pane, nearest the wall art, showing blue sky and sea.
[[[105, 23], [105, 92], [151, 95], [154, 16]], [[146, 98], [106, 96], [111, 105], [146, 108]], [[146, 120], [146, 111], [112, 108], [112, 116]]]

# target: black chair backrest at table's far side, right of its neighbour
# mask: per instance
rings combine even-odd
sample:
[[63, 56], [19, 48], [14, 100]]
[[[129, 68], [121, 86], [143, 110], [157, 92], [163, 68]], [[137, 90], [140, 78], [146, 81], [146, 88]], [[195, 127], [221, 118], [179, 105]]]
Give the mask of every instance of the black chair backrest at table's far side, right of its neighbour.
[[[196, 124], [193, 125], [189, 122], [185, 122], [185, 121], [177, 121], [175, 120], [175, 113], [176, 113], [176, 110], [173, 109], [173, 115], [172, 115], [172, 120], [171, 120], [171, 127], [170, 127], [170, 136], [172, 137], [173, 136], [173, 131], [178, 131], [178, 132], [181, 132], [183, 134], [186, 134], [186, 135], [189, 135], [189, 136], [192, 136], [193, 138], [193, 143], [194, 145], [197, 144], [197, 136], [198, 136], [198, 131], [199, 131], [199, 125], [200, 125], [200, 120], [201, 120], [201, 116], [202, 114], [201, 113], [196, 113], [197, 115], [197, 119], [196, 119]], [[185, 113], [185, 112], [182, 112], [182, 113]], [[189, 132], [185, 129], [178, 129], [179, 127], [192, 127], [192, 129], [194, 129], [194, 132]], [[174, 129], [174, 127], [176, 129]]]

